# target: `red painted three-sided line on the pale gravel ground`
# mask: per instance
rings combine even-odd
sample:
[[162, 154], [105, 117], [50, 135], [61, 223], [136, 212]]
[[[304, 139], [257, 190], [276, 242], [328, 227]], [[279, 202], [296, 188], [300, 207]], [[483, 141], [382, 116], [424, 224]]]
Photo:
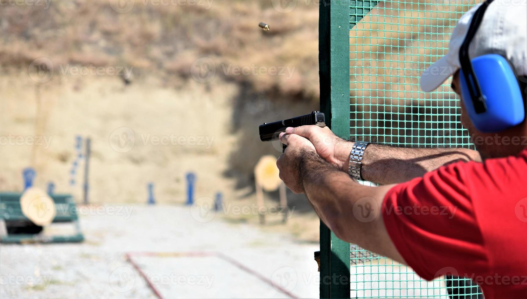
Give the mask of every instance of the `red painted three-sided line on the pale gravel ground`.
[[249, 267], [243, 265], [242, 263], [236, 261], [236, 259], [233, 259], [233, 258], [231, 258], [231, 257], [229, 257], [229, 256], [227, 256], [225, 254], [219, 253], [219, 252], [181, 252], [181, 253], [178, 253], [178, 252], [135, 252], [135, 253], [127, 253], [126, 256], [128, 257], [128, 260], [130, 261], [130, 263], [132, 263], [132, 265], [135, 267], [135, 269], [137, 269], [137, 271], [141, 274], [141, 276], [148, 283], [148, 285], [150, 286], [152, 291], [155, 293], [155, 295], [158, 296], [159, 299], [163, 299], [163, 298], [161, 297], [161, 295], [159, 294], [157, 289], [153, 286], [153, 284], [149, 281], [149, 279], [143, 274], [143, 272], [141, 271], [139, 266], [137, 266], [132, 261], [132, 259], [131, 259], [131, 255], [132, 254], [133, 255], [139, 255], [139, 256], [158, 256], [158, 257], [163, 257], [163, 256], [170, 256], [170, 257], [182, 257], [182, 256], [186, 256], [186, 257], [210, 257], [210, 256], [216, 256], [218, 258], [223, 259], [223, 261], [231, 263], [231, 264], [237, 266], [238, 268], [242, 269], [243, 271], [258, 277], [261, 281], [263, 281], [263, 282], [267, 283], [268, 285], [274, 287], [275, 290], [277, 290], [279, 292], [282, 292], [282, 293], [288, 295], [289, 297], [291, 297], [293, 299], [298, 299], [297, 296], [295, 296], [291, 292], [287, 291], [285, 288], [283, 288], [283, 287], [281, 287], [279, 285], [275, 285], [274, 283], [272, 283], [271, 279], [268, 279], [264, 275], [261, 275], [260, 273], [258, 273], [256, 271], [253, 271], [251, 268], [249, 268]]

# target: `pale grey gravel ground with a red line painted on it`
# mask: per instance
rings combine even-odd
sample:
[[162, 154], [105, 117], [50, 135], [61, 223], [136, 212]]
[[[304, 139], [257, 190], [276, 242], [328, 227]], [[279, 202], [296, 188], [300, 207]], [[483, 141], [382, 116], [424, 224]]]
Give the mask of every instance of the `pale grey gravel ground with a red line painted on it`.
[[197, 218], [189, 207], [119, 208], [81, 213], [82, 244], [1, 245], [0, 297], [155, 298], [126, 253], [136, 253], [133, 261], [164, 298], [290, 297], [284, 290], [318, 297], [316, 244], [219, 217]]

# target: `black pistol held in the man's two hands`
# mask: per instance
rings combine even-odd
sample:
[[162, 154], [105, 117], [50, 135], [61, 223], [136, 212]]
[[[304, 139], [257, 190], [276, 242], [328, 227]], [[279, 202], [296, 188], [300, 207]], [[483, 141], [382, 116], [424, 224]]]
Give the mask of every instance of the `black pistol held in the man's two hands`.
[[[294, 117], [286, 120], [280, 120], [270, 123], [260, 124], [260, 140], [261, 141], [275, 141], [278, 140], [280, 133], [285, 132], [286, 128], [310, 126], [316, 124], [320, 128], [326, 127], [326, 117], [320, 111], [313, 111], [309, 114]], [[282, 144], [282, 152], [286, 150], [286, 145]]]

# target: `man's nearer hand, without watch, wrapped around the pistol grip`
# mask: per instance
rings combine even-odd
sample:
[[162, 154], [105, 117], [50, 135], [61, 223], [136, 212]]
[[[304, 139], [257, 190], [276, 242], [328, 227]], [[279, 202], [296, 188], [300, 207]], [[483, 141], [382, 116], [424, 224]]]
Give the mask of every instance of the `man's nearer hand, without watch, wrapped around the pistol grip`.
[[302, 183], [302, 164], [307, 152], [315, 152], [313, 143], [296, 134], [280, 134], [280, 141], [287, 145], [286, 151], [276, 161], [280, 179], [296, 194], [305, 193]]

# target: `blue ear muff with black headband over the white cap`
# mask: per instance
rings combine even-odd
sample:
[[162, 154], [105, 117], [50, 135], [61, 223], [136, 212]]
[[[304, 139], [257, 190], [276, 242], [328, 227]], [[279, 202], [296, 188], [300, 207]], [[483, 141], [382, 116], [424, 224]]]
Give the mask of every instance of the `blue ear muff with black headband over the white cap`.
[[520, 84], [509, 61], [499, 54], [485, 54], [472, 61], [469, 57], [470, 42], [492, 1], [476, 10], [460, 48], [463, 103], [476, 129], [485, 133], [509, 129], [525, 119]]

